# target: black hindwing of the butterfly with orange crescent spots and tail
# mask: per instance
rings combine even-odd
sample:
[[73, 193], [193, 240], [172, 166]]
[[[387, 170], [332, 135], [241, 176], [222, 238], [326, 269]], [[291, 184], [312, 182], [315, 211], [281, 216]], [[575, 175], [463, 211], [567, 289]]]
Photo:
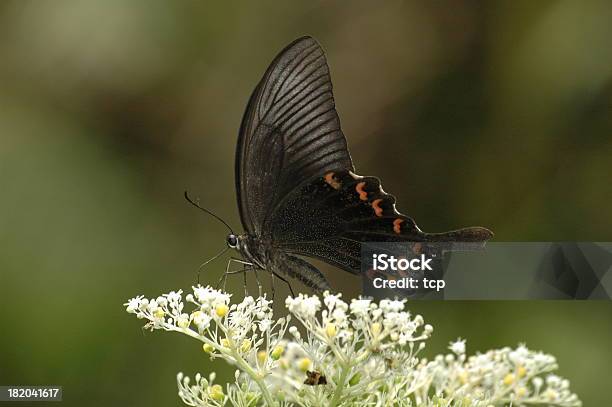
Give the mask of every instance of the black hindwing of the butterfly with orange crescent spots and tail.
[[[289, 221], [286, 221], [289, 220]], [[333, 171], [290, 194], [272, 220], [274, 246], [320, 258], [346, 271], [361, 271], [363, 242], [475, 242], [490, 238], [484, 228], [424, 233], [395, 208], [376, 177]]]

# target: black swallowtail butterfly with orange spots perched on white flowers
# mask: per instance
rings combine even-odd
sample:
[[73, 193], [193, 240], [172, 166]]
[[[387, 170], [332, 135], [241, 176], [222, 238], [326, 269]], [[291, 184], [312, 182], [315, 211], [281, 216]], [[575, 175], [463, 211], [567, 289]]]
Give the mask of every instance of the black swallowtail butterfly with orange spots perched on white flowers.
[[245, 233], [227, 237], [243, 264], [317, 292], [323, 274], [298, 256], [360, 273], [361, 243], [475, 242], [481, 227], [424, 233], [380, 180], [353, 171], [325, 55], [311, 37], [289, 44], [255, 88], [240, 126], [236, 191]]

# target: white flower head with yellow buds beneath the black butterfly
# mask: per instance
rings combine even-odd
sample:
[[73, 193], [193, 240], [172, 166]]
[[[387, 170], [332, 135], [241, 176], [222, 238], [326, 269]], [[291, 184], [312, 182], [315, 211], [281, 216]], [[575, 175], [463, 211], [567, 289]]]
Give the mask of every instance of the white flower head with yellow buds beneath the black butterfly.
[[287, 298], [288, 317], [274, 319], [265, 296], [232, 304], [229, 294], [197, 286], [185, 302], [178, 291], [125, 305], [145, 327], [189, 335], [237, 368], [225, 387], [214, 373], [193, 382], [179, 373], [189, 406], [581, 406], [569, 382], [551, 373], [555, 358], [522, 345], [467, 357], [457, 340], [451, 353], [421, 358], [433, 328], [404, 301], [300, 294]]

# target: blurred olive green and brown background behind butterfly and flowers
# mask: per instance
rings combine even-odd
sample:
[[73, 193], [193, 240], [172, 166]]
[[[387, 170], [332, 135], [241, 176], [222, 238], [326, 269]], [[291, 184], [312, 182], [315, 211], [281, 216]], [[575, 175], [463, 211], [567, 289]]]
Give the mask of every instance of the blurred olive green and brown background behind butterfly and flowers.
[[[62, 385], [70, 406], [180, 405], [176, 372], [232, 374], [186, 337], [143, 333], [122, 303], [188, 288], [224, 246], [184, 189], [239, 228], [243, 109], [305, 34], [327, 51], [358, 173], [423, 230], [609, 241], [610, 21], [610, 3], [569, 0], [3, 1], [0, 384]], [[585, 406], [612, 401], [610, 302], [410, 308], [435, 326], [428, 355], [458, 336], [470, 352], [526, 342]]]

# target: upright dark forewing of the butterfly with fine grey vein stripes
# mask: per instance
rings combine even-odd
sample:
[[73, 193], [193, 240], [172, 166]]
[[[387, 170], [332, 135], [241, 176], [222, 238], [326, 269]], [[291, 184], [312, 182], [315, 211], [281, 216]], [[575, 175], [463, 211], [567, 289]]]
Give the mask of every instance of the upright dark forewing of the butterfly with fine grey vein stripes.
[[310, 37], [272, 62], [247, 106], [236, 151], [243, 226], [261, 236], [287, 194], [329, 170], [352, 169], [323, 50]]

